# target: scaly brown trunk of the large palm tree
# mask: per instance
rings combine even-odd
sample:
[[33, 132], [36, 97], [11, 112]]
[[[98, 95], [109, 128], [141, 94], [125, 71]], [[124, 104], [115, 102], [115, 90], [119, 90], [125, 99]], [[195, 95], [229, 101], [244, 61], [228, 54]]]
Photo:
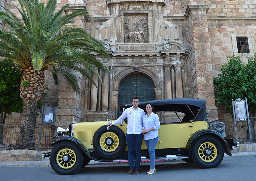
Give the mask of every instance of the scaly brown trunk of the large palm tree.
[[20, 81], [20, 97], [23, 102], [20, 135], [16, 147], [35, 149], [36, 108], [44, 90], [44, 71], [25, 68]]

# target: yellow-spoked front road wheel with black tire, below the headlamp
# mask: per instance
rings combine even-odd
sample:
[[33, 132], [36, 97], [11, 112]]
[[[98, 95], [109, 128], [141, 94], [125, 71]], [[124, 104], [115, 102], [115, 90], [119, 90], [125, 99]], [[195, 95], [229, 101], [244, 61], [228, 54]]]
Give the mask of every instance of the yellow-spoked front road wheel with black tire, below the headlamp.
[[[67, 159], [67, 160], [66, 160]], [[60, 175], [72, 175], [82, 166], [84, 155], [82, 150], [71, 141], [63, 141], [55, 145], [50, 155], [52, 169]]]

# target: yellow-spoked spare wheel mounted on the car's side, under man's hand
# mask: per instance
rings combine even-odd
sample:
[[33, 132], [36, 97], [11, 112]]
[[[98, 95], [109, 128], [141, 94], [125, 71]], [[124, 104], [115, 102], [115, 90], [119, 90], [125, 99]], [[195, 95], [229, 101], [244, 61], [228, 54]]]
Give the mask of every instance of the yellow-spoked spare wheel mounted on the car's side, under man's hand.
[[112, 159], [123, 153], [126, 139], [119, 127], [113, 125], [107, 130], [107, 125], [104, 125], [94, 133], [92, 144], [101, 157]]

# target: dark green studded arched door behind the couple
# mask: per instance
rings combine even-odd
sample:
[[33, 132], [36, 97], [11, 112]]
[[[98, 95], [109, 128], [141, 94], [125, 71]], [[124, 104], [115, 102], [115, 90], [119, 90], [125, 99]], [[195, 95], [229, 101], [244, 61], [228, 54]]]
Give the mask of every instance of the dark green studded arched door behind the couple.
[[[119, 85], [118, 107], [132, 103], [132, 97], [137, 96], [140, 102], [155, 100], [153, 82], [141, 74], [132, 74], [125, 77]], [[118, 117], [122, 112], [118, 109]]]

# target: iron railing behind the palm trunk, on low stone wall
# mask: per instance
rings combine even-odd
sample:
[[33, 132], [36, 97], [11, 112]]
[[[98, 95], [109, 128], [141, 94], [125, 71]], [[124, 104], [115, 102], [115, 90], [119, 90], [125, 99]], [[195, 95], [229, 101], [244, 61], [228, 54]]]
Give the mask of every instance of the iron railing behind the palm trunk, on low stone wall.
[[[27, 136], [20, 135], [20, 129], [35, 126], [35, 146], [25, 147], [23, 144], [17, 146], [18, 138], [25, 140]], [[14, 149], [33, 149], [45, 150], [51, 149], [49, 146], [53, 138], [57, 136], [57, 126], [52, 124], [0, 124], [0, 148]]]

